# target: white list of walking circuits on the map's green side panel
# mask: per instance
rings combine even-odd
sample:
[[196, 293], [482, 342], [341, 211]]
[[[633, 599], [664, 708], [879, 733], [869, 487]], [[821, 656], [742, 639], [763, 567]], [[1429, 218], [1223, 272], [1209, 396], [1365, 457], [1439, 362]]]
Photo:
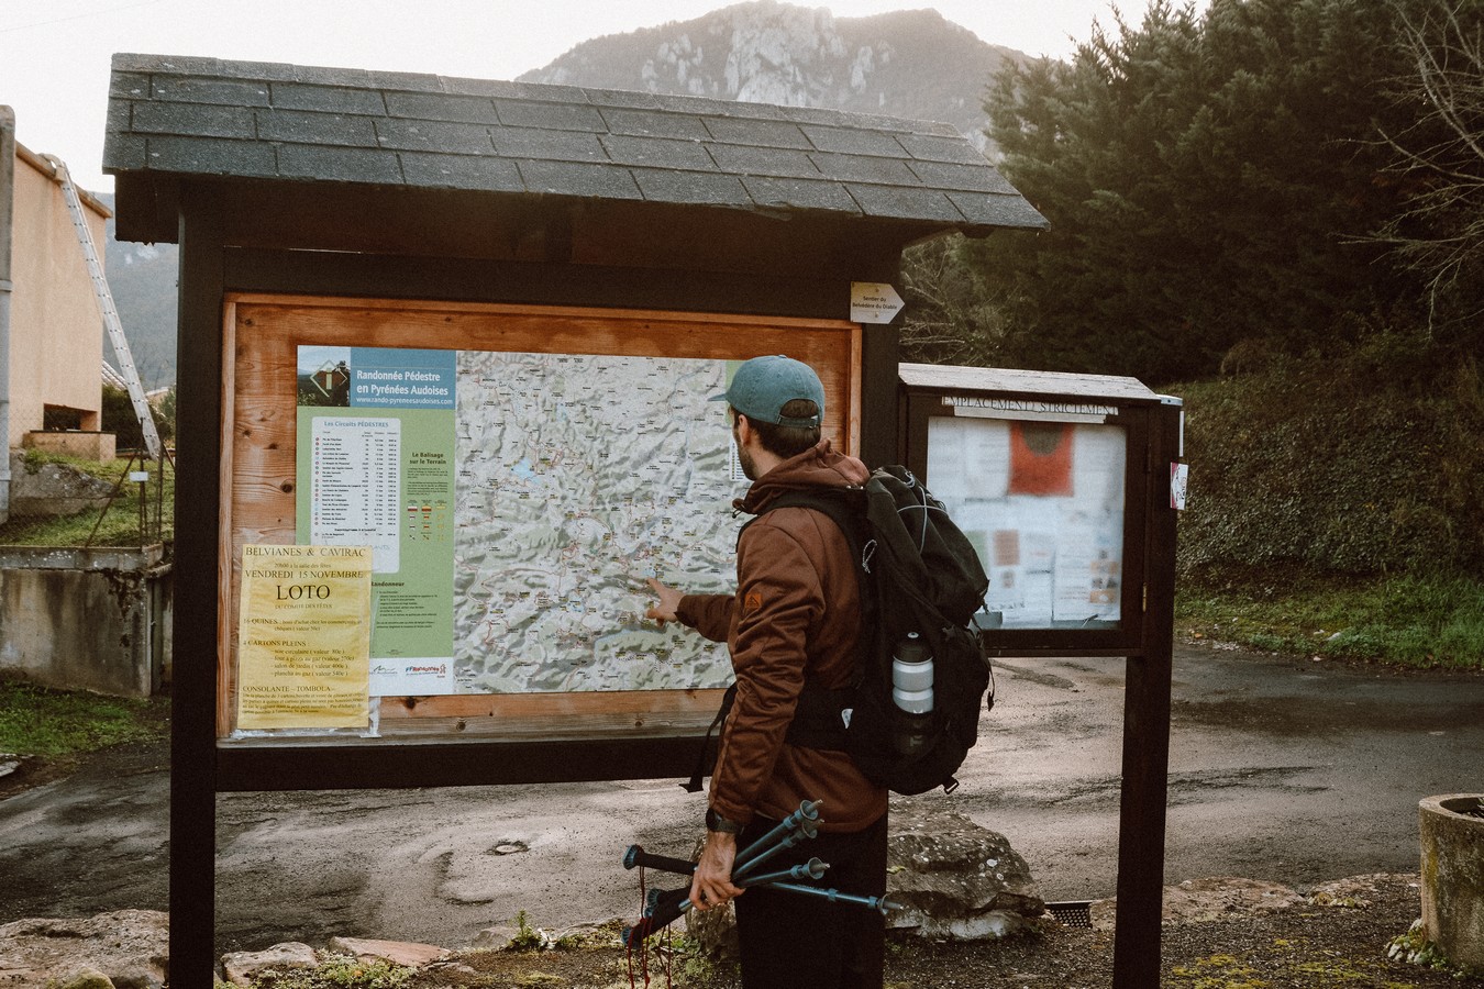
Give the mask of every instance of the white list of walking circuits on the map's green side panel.
[[402, 423], [319, 417], [313, 426], [310, 543], [370, 546], [372, 571], [401, 566]]

